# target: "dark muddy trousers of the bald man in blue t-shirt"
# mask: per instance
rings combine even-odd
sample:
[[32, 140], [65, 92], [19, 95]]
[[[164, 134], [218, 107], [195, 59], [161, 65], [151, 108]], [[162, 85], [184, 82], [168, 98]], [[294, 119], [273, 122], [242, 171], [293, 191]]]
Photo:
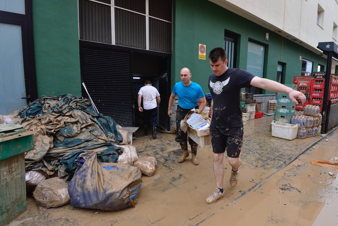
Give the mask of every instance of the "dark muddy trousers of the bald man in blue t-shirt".
[[[196, 106], [195, 108], [198, 108], [198, 106]], [[175, 138], [175, 141], [181, 145], [182, 150], [188, 150], [188, 142], [187, 142], [188, 133], [182, 131], [181, 120], [183, 120], [184, 117], [186, 117], [187, 113], [190, 110], [191, 109], [181, 108], [180, 106], [177, 105], [177, 110], [176, 110], [177, 136]], [[190, 137], [189, 137], [189, 144], [191, 146], [191, 152], [197, 155], [197, 144]]]

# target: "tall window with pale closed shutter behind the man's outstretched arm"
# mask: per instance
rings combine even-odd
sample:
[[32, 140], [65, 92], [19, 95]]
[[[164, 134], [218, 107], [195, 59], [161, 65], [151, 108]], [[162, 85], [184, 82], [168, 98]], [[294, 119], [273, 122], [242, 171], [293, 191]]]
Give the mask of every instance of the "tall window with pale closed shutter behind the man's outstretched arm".
[[[264, 57], [265, 57], [265, 46], [249, 41], [246, 70], [249, 71], [252, 75], [263, 78]], [[262, 94], [263, 92], [261, 88], [257, 88], [254, 86], [246, 88], [245, 91], [254, 94]]]

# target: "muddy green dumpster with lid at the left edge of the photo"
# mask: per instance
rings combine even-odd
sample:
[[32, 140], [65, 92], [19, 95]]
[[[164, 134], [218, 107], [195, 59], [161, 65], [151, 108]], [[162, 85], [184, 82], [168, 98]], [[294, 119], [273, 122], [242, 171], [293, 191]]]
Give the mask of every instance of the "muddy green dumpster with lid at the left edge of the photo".
[[26, 211], [25, 152], [34, 148], [33, 131], [0, 124], [0, 225]]

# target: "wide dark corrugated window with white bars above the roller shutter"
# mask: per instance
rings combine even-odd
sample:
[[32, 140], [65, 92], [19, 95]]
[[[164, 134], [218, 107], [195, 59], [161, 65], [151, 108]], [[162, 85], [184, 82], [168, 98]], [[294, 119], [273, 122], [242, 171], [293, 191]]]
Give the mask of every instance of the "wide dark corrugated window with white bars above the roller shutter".
[[172, 0], [78, 0], [79, 39], [171, 53]]

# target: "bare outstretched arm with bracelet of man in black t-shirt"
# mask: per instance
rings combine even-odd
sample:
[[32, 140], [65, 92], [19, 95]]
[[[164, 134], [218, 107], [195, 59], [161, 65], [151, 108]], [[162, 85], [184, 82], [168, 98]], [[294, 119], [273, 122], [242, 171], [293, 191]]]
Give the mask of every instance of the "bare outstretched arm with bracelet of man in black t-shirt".
[[303, 93], [300, 93], [297, 90], [293, 90], [290, 87], [287, 87], [279, 82], [275, 82], [269, 79], [263, 79], [263, 78], [259, 78], [256, 76], [251, 80], [250, 85], [253, 85], [253, 86], [265, 89], [265, 90], [273, 91], [273, 92], [288, 94], [290, 99], [295, 104], [298, 104], [298, 102], [296, 101], [297, 97], [300, 99], [302, 104], [304, 104], [306, 101], [306, 97]]

